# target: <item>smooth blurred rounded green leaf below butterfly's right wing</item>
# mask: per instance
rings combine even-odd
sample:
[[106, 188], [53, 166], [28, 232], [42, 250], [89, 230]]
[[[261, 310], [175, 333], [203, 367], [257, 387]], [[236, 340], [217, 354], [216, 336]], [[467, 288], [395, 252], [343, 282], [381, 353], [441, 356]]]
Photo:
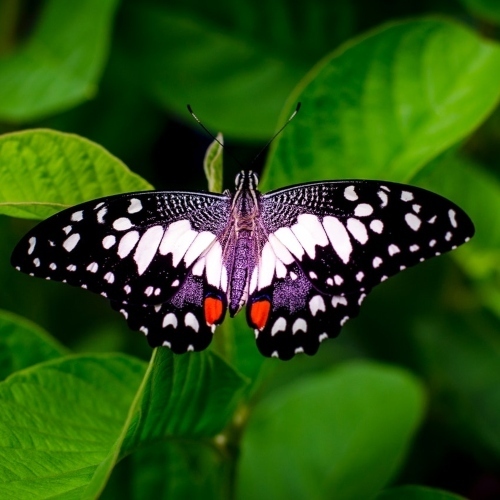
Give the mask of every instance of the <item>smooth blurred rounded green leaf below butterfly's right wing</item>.
[[413, 376], [361, 362], [272, 394], [243, 436], [238, 497], [370, 498], [401, 465], [423, 409]]

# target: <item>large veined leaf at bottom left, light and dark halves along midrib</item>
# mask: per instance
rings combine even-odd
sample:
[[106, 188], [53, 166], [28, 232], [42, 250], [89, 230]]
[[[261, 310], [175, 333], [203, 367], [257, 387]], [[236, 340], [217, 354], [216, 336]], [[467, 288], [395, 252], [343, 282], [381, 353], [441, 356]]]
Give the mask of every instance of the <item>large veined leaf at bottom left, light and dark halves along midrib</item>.
[[[169, 456], [196, 457], [202, 447], [200, 460], [220, 460], [224, 439], [211, 438], [246, 382], [211, 353], [158, 349], [144, 372], [144, 363], [126, 356], [76, 356], [0, 383], [0, 496], [95, 498], [120, 458], [161, 440]], [[185, 477], [164, 477], [174, 490], [196, 475], [195, 465], [184, 466], [170, 472]]]

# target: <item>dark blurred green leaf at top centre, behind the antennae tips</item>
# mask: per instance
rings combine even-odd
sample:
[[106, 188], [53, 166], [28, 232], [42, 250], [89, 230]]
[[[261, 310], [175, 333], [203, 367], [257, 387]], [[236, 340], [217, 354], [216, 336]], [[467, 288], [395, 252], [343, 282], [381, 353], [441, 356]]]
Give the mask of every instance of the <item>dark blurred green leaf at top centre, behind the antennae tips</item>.
[[188, 121], [191, 103], [212, 130], [268, 139], [286, 96], [353, 29], [348, 0], [259, 0], [125, 6], [124, 44], [150, 93]]

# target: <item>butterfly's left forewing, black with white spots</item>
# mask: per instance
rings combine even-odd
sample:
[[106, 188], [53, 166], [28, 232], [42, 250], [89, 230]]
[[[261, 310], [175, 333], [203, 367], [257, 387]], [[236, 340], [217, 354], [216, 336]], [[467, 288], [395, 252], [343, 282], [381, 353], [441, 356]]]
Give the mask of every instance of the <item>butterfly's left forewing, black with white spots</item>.
[[229, 213], [230, 198], [217, 194], [110, 196], [41, 222], [18, 243], [11, 262], [32, 276], [113, 301], [157, 305], [170, 299], [192, 266], [218, 244]]

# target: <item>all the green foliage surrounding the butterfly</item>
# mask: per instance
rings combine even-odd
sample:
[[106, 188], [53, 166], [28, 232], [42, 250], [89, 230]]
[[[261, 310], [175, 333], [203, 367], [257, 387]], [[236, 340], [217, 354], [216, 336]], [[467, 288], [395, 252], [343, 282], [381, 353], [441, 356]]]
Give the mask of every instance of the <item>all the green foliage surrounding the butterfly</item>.
[[[500, 494], [497, 3], [77, 4], [0, 1], [0, 496]], [[26, 219], [144, 178], [205, 187], [211, 140], [187, 103], [242, 158], [298, 101], [263, 190], [408, 182], [477, 229], [381, 285], [314, 358], [264, 360], [242, 314], [207, 352], [151, 355], [99, 297], [10, 268]], [[220, 191], [218, 144], [205, 167]]]

